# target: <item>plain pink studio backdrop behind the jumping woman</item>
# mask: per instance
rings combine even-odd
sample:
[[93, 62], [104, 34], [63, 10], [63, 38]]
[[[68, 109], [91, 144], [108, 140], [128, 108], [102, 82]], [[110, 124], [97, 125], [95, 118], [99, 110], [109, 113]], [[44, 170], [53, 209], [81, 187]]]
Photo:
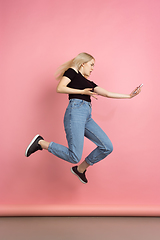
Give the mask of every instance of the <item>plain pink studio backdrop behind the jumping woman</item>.
[[[160, 2], [5, 0], [0, 9], [0, 214], [160, 214]], [[83, 51], [96, 59], [90, 79], [108, 91], [144, 84], [131, 100], [92, 100], [114, 151], [90, 167], [86, 185], [46, 151], [24, 156], [37, 133], [67, 144], [68, 97], [56, 93], [54, 73]], [[85, 140], [82, 159], [94, 147]]]

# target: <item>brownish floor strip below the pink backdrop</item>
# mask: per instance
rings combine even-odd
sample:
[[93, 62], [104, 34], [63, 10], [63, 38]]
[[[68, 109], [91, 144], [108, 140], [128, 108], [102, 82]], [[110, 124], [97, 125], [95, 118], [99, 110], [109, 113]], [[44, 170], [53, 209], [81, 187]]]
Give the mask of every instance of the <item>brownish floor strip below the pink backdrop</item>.
[[0, 240], [160, 240], [156, 217], [0, 217]]

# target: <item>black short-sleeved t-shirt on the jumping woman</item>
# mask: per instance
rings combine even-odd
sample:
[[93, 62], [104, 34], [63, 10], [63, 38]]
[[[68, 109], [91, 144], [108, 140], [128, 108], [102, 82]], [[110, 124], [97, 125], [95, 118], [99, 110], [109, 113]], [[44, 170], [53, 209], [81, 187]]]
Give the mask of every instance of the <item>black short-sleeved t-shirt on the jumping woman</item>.
[[[67, 87], [70, 88], [83, 90], [85, 88], [94, 89], [95, 87], [97, 87], [94, 82], [86, 79], [80, 72], [77, 73], [72, 68], [69, 68], [67, 71], [65, 71], [63, 76], [68, 77], [71, 80], [71, 82], [67, 85]], [[89, 95], [69, 94], [69, 99], [72, 98], [78, 98], [87, 102], [91, 102], [91, 97]]]

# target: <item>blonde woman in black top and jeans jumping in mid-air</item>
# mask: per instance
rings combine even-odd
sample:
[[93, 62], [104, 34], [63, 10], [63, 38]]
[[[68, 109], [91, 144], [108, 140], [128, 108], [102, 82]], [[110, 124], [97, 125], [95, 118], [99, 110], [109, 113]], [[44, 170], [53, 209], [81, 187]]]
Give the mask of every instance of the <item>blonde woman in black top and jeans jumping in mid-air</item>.
[[[108, 156], [113, 151], [113, 146], [104, 131], [91, 117], [91, 97], [101, 95], [108, 98], [129, 99], [140, 93], [141, 87], [136, 88], [131, 94], [108, 92], [99, 87], [88, 77], [94, 69], [95, 59], [87, 53], [80, 53], [71, 61], [63, 64], [57, 79], [58, 93], [69, 94], [69, 105], [64, 116], [64, 127], [68, 148], [55, 142], [45, 141], [39, 134], [36, 135], [26, 149], [26, 157], [37, 150], [46, 149], [55, 156], [70, 163], [76, 164], [71, 172], [78, 176], [83, 183], [87, 183], [86, 169]], [[97, 147], [77, 165], [81, 160], [84, 136], [94, 142]]]

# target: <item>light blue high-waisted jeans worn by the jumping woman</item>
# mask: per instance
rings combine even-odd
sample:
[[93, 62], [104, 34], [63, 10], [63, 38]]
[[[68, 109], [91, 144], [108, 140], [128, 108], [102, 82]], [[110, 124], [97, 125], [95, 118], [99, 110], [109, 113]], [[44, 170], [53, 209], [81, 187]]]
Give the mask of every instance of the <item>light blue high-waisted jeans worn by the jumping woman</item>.
[[85, 158], [89, 165], [104, 159], [113, 151], [113, 146], [105, 132], [91, 117], [91, 103], [71, 99], [64, 116], [64, 127], [68, 148], [51, 142], [48, 151], [70, 163], [78, 163], [82, 157], [84, 136], [97, 147]]

